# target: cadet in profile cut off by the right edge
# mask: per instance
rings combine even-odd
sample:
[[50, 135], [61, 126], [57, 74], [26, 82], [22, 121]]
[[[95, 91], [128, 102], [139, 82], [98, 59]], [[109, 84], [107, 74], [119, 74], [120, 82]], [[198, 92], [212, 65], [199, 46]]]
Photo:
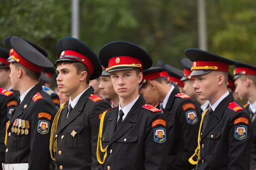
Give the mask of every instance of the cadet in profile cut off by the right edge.
[[250, 170], [256, 169], [256, 66], [238, 62], [234, 69], [235, 93], [250, 104], [245, 109], [253, 122], [253, 147]]

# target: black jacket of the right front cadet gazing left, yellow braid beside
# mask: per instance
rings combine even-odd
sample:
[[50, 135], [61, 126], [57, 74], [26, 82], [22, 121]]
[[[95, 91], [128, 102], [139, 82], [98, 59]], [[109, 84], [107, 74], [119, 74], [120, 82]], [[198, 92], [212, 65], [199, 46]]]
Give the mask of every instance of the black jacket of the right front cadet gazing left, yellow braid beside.
[[230, 93], [206, 115], [198, 170], [249, 170], [253, 127], [248, 113]]

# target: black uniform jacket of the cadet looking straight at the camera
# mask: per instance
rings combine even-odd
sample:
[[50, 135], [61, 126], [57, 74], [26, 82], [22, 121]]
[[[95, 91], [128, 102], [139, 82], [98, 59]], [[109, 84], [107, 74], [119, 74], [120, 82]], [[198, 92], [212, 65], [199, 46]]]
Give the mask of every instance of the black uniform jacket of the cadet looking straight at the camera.
[[108, 149], [101, 170], [166, 170], [168, 132], [163, 113], [145, 105], [140, 96], [116, 130], [118, 112], [118, 107], [112, 108], [104, 119], [101, 140]]

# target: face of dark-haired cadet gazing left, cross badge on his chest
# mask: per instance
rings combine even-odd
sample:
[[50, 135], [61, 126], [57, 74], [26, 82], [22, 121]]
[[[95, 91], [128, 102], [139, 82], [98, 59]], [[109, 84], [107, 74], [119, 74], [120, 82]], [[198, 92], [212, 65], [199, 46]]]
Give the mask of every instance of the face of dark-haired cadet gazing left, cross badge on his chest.
[[81, 83], [80, 74], [77, 74], [76, 67], [72, 64], [61, 64], [58, 65], [56, 73], [60, 92], [69, 95], [74, 94]]

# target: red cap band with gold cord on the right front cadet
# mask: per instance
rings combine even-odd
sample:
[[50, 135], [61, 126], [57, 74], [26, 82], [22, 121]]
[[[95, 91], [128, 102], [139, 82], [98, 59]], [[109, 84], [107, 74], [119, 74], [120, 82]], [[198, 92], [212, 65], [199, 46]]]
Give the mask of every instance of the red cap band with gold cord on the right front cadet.
[[209, 70], [228, 72], [229, 64], [225, 62], [197, 61], [192, 63], [191, 70]]

